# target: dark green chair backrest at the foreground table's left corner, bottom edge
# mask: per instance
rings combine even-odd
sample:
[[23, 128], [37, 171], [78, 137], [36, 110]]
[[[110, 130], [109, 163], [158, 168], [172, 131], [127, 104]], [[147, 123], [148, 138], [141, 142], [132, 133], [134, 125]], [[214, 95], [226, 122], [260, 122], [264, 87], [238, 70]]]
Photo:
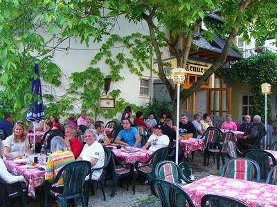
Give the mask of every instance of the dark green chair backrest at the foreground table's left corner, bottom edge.
[[151, 188], [154, 189], [155, 194], [159, 197], [161, 206], [184, 207], [186, 203], [187, 206], [195, 206], [190, 196], [177, 184], [172, 184], [162, 179], [153, 179]]

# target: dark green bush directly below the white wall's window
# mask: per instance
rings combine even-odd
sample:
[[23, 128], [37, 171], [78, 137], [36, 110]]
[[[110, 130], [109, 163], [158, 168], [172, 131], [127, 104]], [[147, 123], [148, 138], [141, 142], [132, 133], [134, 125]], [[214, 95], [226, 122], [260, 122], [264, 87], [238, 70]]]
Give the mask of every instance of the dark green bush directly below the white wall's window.
[[154, 113], [157, 121], [159, 121], [163, 112], [171, 112], [168, 101], [160, 101], [158, 99], [153, 99], [151, 103], [147, 103], [142, 111], [145, 119], [149, 117], [150, 113]]

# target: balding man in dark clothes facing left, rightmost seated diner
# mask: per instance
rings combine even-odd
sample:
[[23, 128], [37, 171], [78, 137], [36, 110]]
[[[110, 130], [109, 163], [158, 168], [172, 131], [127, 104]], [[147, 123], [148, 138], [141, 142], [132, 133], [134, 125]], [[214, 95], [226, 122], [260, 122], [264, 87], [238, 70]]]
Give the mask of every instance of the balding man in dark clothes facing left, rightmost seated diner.
[[238, 148], [241, 152], [244, 152], [249, 148], [249, 145], [255, 144], [258, 139], [259, 132], [265, 132], [265, 126], [260, 123], [260, 116], [256, 115], [253, 118], [253, 125], [249, 130], [244, 132], [244, 136], [241, 139], [238, 139]]

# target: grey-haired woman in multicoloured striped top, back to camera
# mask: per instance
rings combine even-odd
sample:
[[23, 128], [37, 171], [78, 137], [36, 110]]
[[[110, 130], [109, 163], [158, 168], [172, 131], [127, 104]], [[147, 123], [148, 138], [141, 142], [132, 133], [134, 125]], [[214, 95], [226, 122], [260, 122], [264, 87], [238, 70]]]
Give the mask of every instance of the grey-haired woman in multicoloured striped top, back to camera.
[[[55, 179], [57, 172], [65, 166], [73, 161], [75, 161], [74, 155], [71, 150], [68, 150], [64, 139], [59, 136], [53, 137], [51, 140], [51, 152], [52, 154], [48, 156], [48, 161], [46, 164], [46, 172], [45, 172], [45, 179], [52, 180]], [[57, 181], [56, 184], [53, 184], [51, 190], [56, 193], [63, 193], [63, 179], [62, 176]]]

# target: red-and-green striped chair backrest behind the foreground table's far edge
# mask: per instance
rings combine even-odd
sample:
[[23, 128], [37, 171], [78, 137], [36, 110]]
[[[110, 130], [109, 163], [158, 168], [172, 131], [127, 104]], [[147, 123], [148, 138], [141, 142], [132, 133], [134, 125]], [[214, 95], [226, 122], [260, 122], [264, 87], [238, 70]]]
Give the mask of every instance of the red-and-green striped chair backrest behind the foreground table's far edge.
[[221, 176], [247, 181], [253, 181], [256, 177], [256, 181], [260, 181], [260, 167], [251, 159], [231, 159], [223, 166]]

